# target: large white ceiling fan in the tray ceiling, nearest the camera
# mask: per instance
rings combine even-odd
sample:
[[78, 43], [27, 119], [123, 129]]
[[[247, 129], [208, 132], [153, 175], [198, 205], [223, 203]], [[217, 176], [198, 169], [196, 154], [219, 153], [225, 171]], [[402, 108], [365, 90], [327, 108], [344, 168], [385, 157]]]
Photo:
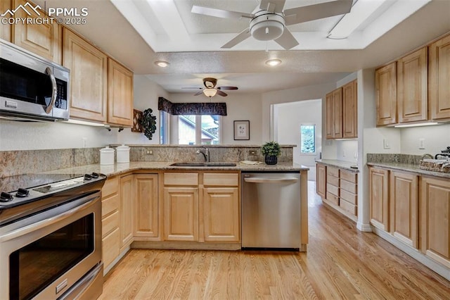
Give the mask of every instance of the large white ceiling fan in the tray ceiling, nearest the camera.
[[349, 13], [352, 3], [353, 0], [337, 0], [283, 9], [285, 0], [259, 0], [259, 6], [253, 13], [240, 13], [196, 5], [192, 6], [191, 12], [218, 18], [250, 19], [250, 26], [221, 46], [221, 49], [230, 49], [251, 36], [259, 41], [274, 40], [284, 49], [289, 50], [297, 46], [298, 42], [286, 26]]

